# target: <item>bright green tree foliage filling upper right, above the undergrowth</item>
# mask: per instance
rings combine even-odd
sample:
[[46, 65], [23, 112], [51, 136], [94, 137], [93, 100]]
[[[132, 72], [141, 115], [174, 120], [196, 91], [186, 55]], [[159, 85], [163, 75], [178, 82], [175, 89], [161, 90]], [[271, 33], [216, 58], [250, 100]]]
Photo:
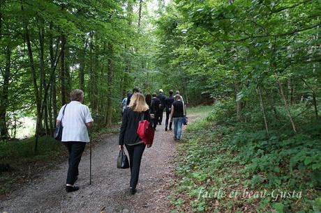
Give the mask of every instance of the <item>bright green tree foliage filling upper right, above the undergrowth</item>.
[[320, 1], [174, 1], [156, 22], [160, 80], [191, 102], [235, 100], [240, 121], [297, 132], [306, 111], [320, 120], [320, 11]]

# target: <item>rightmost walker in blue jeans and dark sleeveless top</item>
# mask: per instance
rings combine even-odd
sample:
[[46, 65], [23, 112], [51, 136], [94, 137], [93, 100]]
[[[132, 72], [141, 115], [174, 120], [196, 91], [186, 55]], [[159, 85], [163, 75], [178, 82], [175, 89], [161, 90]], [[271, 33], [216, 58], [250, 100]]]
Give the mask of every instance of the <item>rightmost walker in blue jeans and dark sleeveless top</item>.
[[174, 121], [174, 140], [181, 140], [181, 125], [183, 125], [186, 110], [184, 102], [181, 101], [181, 95], [175, 95], [175, 101], [172, 104], [170, 121]]

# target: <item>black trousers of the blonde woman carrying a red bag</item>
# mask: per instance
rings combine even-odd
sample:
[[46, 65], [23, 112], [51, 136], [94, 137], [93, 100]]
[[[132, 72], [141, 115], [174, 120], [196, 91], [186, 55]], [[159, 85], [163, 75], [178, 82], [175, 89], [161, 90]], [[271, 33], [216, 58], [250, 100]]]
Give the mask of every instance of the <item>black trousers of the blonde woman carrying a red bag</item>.
[[130, 184], [129, 187], [135, 189], [138, 178], [140, 176], [140, 161], [142, 161], [142, 153], [145, 145], [140, 143], [137, 145], [126, 145], [130, 162]]

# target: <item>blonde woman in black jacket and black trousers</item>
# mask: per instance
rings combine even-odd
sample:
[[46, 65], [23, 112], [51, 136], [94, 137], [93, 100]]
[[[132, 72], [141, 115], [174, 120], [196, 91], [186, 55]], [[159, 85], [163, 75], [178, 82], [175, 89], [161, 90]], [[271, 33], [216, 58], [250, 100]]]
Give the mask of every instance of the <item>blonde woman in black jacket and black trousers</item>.
[[[136, 193], [136, 185], [140, 175], [140, 161], [145, 145], [137, 135], [138, 122], [141, 116], [150, 122], [149, 107], [145, 102], [144, 95], [134, 93], [128, 107], [124, 111], [123, 122], [119, 134], [119, 149], [122, 150], [125, 144], [130, 161], [130, 194]], [[147, 145], [150, 148], [151, 145]]]

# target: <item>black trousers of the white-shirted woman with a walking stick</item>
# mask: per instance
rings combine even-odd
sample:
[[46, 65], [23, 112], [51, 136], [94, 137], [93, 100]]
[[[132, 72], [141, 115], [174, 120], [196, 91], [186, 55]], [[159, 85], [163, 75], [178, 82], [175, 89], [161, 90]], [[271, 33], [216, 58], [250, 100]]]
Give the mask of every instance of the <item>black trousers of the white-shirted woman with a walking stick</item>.
[[69, 152], [66, 184], [73, 185], [76, 181], [77, 175], [79, 175], [78, 166], [80, 159], [82, 159], [82, 152], [84, 152], [86, 143], [79, 141], [68, 141], [63, 143], [66, 145]]

